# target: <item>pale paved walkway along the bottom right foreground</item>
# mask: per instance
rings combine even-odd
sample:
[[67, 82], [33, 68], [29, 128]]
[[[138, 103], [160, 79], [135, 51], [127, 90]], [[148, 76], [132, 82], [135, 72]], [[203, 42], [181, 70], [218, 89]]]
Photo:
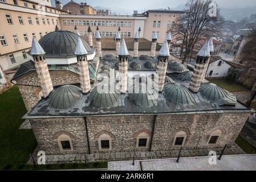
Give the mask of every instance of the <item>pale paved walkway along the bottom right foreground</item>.
[[[216, 164], [209, 164], [210, 156], [194, 158], [158, 159], [136, 161], [109, 162], [111, 171], [256, 171], [256, 155], [224, 155]], [[141, 164], [140, 164], [141, 163]]]

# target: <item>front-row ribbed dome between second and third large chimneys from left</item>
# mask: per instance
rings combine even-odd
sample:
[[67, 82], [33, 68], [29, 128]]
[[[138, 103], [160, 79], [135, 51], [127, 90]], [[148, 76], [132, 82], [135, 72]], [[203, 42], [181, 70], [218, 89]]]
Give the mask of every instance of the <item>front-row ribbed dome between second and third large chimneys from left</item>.
[[119, 96], [115, 92], [113, 84], [99, 84], [92, 89], [89, 100], [95, 107], [117, 107]]

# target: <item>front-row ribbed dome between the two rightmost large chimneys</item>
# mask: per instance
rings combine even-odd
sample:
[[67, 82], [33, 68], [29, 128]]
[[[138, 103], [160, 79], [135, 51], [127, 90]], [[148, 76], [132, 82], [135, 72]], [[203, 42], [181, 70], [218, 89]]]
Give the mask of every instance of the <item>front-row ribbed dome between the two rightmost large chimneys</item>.
[[195, 105], [194, 96], [185, 86], [178, 83], [170, 83], [164, 86], [166, 100], [174, 105]]

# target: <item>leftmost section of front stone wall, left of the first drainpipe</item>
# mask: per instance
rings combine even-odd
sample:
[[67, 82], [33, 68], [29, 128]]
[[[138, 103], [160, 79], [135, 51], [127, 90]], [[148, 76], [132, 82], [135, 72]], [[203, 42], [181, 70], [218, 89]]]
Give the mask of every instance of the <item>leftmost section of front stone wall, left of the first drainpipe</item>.
[[[39, 150], [46, 154], [76, 154], [88, 152], [84, 118], [30, 119], [31, 127], [38, 142]], [[74, 151], [60, 152], [59, 134], [71, 137]]]

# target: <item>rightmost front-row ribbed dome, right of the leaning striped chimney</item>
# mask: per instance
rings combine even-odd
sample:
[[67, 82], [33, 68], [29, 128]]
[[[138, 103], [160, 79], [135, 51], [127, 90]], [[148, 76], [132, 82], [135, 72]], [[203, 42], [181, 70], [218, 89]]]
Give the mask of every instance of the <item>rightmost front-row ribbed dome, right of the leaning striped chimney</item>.
[[237, 98], [234, 94], [228, 92], [212, 83], [202, 83], [199, 92], [208, 102], [217, 102], [218, 105], [235, 105]]

